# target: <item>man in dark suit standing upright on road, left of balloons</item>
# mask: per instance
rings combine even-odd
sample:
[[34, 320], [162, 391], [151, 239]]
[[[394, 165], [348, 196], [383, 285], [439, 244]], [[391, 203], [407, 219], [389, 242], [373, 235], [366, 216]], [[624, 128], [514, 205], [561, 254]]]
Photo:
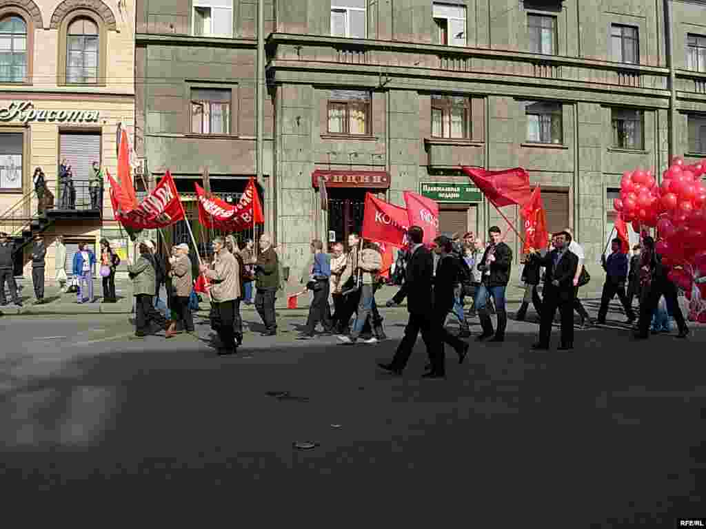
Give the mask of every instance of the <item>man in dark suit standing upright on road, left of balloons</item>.
[[542, 322], [539, 324], [539, 342], [533, 349], [549, 349], [551, 322], [558, 308], [561, 314], [561, 344], [558, 351], [573, 349], [573, 303], [576, 295], [573, 279], [578, 269], [578, 256], [571, 253], [571, 236], [566, 231], [554, 234], [554, 250], [542, 257], [546, 269]]

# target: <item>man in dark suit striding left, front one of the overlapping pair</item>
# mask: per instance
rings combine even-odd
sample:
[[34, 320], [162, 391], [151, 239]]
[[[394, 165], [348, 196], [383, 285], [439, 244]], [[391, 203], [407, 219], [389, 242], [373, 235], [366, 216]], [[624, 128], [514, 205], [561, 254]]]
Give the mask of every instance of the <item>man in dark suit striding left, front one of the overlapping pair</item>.
[[402, 375], [409, 356], [412, 355], [412, 348], [417, 341], [417, 335], [421, 331], [421, 339], [426, 344], [426, 351], [431, 361], [431, 370], [424, 374], [424, 378], [443, 378], [443, 358], [438, 355], [438, 336], [434, 329], [433, 317], [433, 297], [431, 291], [433, 276], [433, 257], [431, 252], [424, 248], [421, 241], [424, 240], [424, 231], [419, 226], [412, 226], [407, 231], [410, 241], [409, 261], [405, 269], [405, 282], [395, 297], [388, 301], [387, 306], [391, 307], [407, 298], [407, 312], [409, 321], [405, 327], [405, 336], [397, 346], [395, 357], [389, 364], [378, 363], [381, 369]]

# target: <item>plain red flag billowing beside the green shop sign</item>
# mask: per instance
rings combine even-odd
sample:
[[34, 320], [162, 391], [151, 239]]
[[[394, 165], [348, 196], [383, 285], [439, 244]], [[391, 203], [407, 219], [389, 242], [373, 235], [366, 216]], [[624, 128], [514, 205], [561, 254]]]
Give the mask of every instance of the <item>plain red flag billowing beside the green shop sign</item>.
[[524, 206], [531, 199], [530, 175], [522, 167], [504, 171], [465, 166], [462, 169], [495, 207]]

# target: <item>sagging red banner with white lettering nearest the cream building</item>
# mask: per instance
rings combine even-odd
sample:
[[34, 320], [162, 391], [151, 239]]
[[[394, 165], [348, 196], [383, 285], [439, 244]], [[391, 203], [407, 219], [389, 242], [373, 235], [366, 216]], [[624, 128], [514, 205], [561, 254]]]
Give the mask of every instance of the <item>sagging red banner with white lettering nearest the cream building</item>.
[[[116, 207], [116, 199], [117, 197], [111, 193], [113, 207]], [[140, 202], [136, 209], [130, 212], [117, 210], [115, 219], [126, 228], [136, 230], [166, 228], [184, 219], [184, 207], [181, 206], [172, 174], [167, 171], [157, 187]]]

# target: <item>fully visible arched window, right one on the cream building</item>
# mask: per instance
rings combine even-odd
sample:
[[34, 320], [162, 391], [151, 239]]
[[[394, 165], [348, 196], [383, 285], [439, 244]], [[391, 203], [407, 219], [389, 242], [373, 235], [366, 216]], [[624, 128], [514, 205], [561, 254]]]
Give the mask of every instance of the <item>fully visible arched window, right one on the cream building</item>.
[[66, 31], [66, 82], [97, 83], [100, 32], [90, 18], [76, 18]]

